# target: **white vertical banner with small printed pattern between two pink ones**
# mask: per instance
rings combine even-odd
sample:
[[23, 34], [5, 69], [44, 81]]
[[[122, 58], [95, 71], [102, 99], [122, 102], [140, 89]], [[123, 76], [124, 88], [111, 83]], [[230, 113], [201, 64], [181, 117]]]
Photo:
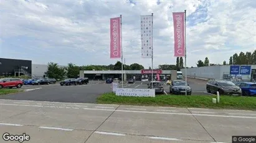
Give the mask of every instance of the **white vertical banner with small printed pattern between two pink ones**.
[[141, 58], [152, 58], [153, 15], [141, 15]]

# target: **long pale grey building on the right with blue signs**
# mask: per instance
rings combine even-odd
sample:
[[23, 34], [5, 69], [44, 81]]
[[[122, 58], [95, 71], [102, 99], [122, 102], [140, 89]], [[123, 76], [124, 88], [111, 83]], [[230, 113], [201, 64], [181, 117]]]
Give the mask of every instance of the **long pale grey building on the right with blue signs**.
[[[185, 69], [181, 69], [183, 75]], [[188, 77], [205, 79], [239, 79], [244, 81], [256, 80], [256, 65], [223, 65], [187, 68]]]

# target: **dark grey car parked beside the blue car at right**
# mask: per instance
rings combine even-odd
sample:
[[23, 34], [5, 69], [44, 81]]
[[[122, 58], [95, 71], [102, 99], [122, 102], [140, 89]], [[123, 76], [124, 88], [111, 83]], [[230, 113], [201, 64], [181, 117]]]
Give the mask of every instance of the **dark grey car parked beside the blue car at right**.
[[217, 93], [220, 95], [241, 95], [240, 87], [228, 80], [209, 80], [206, 84], [208, 93]]

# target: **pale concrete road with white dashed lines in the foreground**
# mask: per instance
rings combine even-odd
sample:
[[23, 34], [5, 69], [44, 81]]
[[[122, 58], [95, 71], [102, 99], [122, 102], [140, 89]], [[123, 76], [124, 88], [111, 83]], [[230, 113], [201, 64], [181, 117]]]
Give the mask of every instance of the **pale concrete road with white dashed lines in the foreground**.
[[1, 136], [25, 132], [32, 143], [232, 142], [256, 132], [256, 111], [0, 100], [0, 113]]

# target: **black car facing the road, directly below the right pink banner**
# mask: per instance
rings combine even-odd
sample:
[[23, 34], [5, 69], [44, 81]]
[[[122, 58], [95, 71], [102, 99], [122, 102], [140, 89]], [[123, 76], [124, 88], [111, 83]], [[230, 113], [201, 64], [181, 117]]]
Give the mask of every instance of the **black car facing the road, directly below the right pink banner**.
[[186, 94], [186, 90], [187, 90], [187, 95], [191, 95], [191, 92], [192, 92], [191, 87], [189, 87], [189, 84], [187, 84], [186, 86], [186, 82], [184, 80], [173, 80], [171, 82], [169, 90], [170, 90], [170, 93], [178, 94], [178, 95]]

